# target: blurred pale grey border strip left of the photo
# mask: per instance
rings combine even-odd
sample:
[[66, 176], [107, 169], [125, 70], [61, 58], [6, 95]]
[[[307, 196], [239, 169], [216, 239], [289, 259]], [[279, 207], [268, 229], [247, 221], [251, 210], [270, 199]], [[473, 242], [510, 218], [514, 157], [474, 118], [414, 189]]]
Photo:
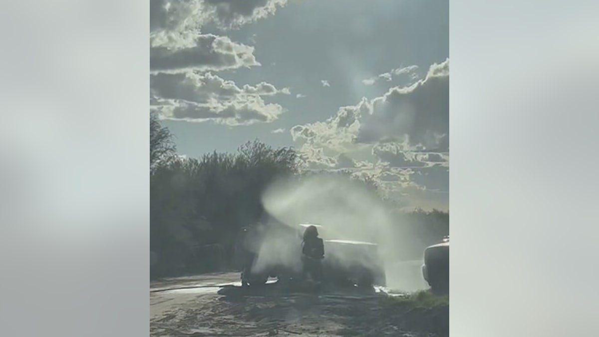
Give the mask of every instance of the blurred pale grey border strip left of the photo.
[[0, 336], [149, 335], [149, 2], [0, 10]]

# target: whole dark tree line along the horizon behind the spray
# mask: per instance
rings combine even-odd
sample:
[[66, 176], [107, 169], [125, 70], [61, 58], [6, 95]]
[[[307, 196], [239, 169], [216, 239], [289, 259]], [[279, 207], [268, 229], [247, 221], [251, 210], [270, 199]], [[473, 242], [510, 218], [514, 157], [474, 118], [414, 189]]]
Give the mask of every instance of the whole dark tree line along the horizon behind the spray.
[[[259, 140], [236, 153], [214, 151], [200, 158], [180, 157], [176, 151], [171, 132], [150, 115], [152, 278], [234, 268], [235, 237], [241, 227], [264, 218], [261, 196], [270, 183], [323, 174], [305, 170], [293, 148], [273, 148]], [[373, 179], [352, 179], [388, 202]], [[401, 224], [413, 224], [411, 230], [422, 238], [418, 247], [449, 234], [449, 213], [395, 213]]]

